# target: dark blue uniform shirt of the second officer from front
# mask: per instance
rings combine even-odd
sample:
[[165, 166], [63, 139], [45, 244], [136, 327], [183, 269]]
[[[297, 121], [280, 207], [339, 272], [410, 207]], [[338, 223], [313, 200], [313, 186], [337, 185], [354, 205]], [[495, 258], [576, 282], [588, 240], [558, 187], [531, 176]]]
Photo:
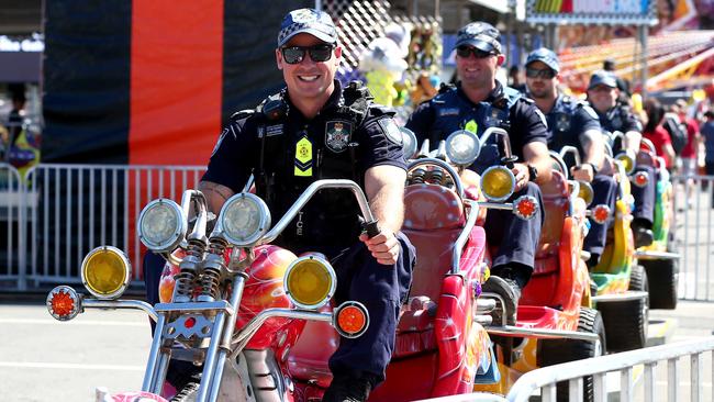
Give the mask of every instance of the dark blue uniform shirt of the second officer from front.
[[[503, 98], [507, 99], [509, 108], [505, 113], [499, 113], [498, 108], [493, 108], [492, 103]], [[435, 148], [434, 141], [446, 139], [450, 133], [467, 129], [471, 122], [471, 127], [475, 123], [476, 133], [480, 136], [486, 129], [501, 126], [505, 121], [510, 125], [506, 131], [511, 138], [511, 149], [520, 160], [524, 160], [523, 147], [526, 144], [532, 142], [547, 144], [547, 129], [543, 113], [532, 100], [523, 98], [518, 91], [504, 87], [499, 81], [495, 82], [495, 88], [487, 99], [478, 103], [468, 99], [459, 82], [456, 87], [442, 91], [432, 100], [420, 104], [405, 126], [416, 134], [420, 144], [429, 138], [432, 148]], [[501, 156], [497, 138], [491, 137], [470, 168], [480, 174], [489, 166], [500, 164]]]

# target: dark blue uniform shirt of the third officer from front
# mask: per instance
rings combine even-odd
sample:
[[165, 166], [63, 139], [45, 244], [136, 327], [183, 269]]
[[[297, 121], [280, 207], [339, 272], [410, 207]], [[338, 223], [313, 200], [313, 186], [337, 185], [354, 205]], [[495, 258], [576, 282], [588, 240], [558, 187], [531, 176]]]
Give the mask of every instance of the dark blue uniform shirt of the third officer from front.
[[546, 114], [548, 122], [548, 148], [560, 150], [574, 146], [583, 155], [580, 136], [589, 130], [601, 131], [598, 113], [585, 102], [558, 94], [553, 109]]

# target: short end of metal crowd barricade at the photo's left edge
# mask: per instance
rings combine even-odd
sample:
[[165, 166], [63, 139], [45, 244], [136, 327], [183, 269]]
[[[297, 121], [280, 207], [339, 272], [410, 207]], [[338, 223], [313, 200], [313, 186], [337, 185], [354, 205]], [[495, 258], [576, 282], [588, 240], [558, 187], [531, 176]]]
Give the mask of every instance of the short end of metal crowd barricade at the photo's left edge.
[[25, 289], [25, 194], [18, 169], [0, 163], [0, 280]]

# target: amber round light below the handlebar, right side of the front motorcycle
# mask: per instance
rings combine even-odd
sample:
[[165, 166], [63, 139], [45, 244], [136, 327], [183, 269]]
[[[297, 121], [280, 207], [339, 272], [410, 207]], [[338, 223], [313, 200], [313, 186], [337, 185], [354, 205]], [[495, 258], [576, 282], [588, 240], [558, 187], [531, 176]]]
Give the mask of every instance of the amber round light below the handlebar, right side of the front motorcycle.
[[332, 299], [337, 287], [337, 276], [330, 263], [309, 255], [290, 264], [286, 270], [283, 287], [293, 304], [316, 310]]

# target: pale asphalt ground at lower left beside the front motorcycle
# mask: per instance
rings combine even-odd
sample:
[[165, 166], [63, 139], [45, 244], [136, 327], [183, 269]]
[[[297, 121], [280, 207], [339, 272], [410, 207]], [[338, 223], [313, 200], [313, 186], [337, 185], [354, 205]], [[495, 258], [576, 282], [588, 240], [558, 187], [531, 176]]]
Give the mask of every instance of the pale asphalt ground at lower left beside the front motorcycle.
[[60, 323], [44, 304], [0, 304], [0, 401], [93, 401], [140, 390], [150, 344], [144, 313], [88, 310]]

